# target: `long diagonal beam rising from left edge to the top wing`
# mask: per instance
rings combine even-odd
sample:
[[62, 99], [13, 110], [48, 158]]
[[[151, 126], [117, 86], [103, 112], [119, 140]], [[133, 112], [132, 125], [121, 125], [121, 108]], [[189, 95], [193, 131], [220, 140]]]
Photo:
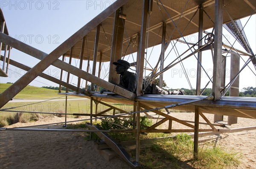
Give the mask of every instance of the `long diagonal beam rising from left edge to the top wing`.
[[[17, 95], [24, 87], [29, 85], [40, 73], [42, 73], [46, 68], [49, 67], [56, 59], [58, 59], [62, 54], [68, 51], [72, 46], [74, 46], [80, 39], [87, 35], [90, 31], [95, 28], [96, 25], [102, 23], [108, 16], [113, 14], [116, 9], [124, 5], [128, 0], [117, 0], [107, 9], [102, 11], [101, 14], [90, 20], [89, 23], [84, 25], [79, 31], [73, 34], [65, 42], [59, 45], [55, 50], [53, 50], [47, 57], [41, 60], [37, 65], [35, 65], [31, 70], [29, 70], [23, 77], [18, 79], [14, 84], [7, 88], [0, 95], [0, 108], [3, 107], [9, 100]], [[0, 39], [3, 42], [3, 33], [0, 33]], [[8, 38], [8, 37], [7, 37]], [[10, 45], [12, 46], [12, 45]], [[12, 46], [13, 47], [13, 46]], [[31, 49], [25, 49], [31, 50]]]

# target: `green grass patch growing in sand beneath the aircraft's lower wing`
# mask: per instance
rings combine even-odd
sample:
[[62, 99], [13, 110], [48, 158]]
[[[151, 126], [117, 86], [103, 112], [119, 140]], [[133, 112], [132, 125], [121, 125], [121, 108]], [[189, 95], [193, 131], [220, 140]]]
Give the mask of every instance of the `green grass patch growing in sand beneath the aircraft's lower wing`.
[[[199, 146], [198, 158], [193, 156], [193, 140], [187, 134], [178, 134], [176, 139], [155, 141], [141, 148], [140, 163], [145, 169], [237, 168], [241, 154], [234, 150], [221, 149], [207, 142]], [[135, 158], [134, 150], [131, 152]]]

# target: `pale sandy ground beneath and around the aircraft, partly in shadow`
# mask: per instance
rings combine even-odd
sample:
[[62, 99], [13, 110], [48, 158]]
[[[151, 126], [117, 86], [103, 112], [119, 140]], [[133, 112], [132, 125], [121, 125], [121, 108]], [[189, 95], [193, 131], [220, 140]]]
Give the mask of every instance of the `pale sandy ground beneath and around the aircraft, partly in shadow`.
[[[154, 114], [154, 113], [153, 113]], [[172, 113], [180, 119], [191, 120], [193, 113]], [[213, 115], [205, 114], [210, 121]], [[71, 121], [74, 119], [68, 119]], [[76, 120], [78, 120], [76, 118]], [[9, 126], [24, 127], [58, 123], [64, 118], [49, 116], [36, 122], [17, 123]], [[165, 127], [168, 124], [162, 124]], [[256, 119], [239, 118], [238, 124], [226, 128], [240, 128], [256, 126]], [[173, 122], [172, 127], [186, 128]], [[204, 125], [201, 128], [207, 128]], [[49, 128], [49, 126], [37, 127]], [[50, 126], [61, 128], [61, 125]], [[0, 168], [1, 169], [130, 169], [131, 167], [115, 157], [106, 161], [96, 151], [95, 143], [84, 139], [83, 132], [34, 132], [34, 131], [0, 131]], [[256, 169], [256, 130], [222, 133], [205, 136], [200, 139], [212, 139], [225, 149], [241, 152], [239, 169]]]

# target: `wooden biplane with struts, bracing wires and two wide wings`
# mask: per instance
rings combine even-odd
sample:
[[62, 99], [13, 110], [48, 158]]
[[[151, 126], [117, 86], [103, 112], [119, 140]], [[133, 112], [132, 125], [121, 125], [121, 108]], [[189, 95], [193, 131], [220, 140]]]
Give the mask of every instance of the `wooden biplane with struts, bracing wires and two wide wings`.
[[[73, 34], [65, 42], [53, 50], [50, 54], [32, 48], [29, 45], [19, 42], [8, 36], [8, 33], [0, 33], [0, 42], [3, 47], [6, 45], [15, 48], [26, 54], [29, 54], [41, 61], [33, 68], [15, 62], [8, 57], [8, 62], [28, 72], [24, 75], [26, 78], [20, 78], [11, 87], [0, 95], [0, 107], [3, 107], [10, 99], [19, 93], [26, 85], [32, 82], [37, 76], [41, 76], [61, 86], [75, 90], [73, 95], [87, 97], [93, 102], [103, 104], [110, 107], [102, 112], [93, 112], [90, 114], [91, 131], [99, 130], [92, 124], [93, 118], [109, 117], [104, 113], [113, 110], [111, 117], [134, 118], [134, 127], [132, 129], [124, 128], [119, 132], [136, 132], [136, 160], [133, 161], [119, 144], [116, 144], [106, 134], [107, 131], [99, 130], [96, 132], [99, 137], [104, 139], [111, 148], [121, 155], [132, 166], [139, 166], [140, 154], [140, 133], [147, 132], [194, 132], [195, 133], [195, 155], [198, 151], [198, 135], [199, 132], [221, 132], [216, 129], [203, 113], [215, 114], [215, 121], [221, 121], [223, 115], [229, 116], [229, 124], [236, 123], [237, 117], [256, 118], [256, 99], [250, 97], [237, 97], [239, 94], [239, 73], [249, 63], [253, 63], [256, 68], [255, 54], [247, 42], [243, 28], [240, 26], [239, 19], [251, 16], [256, 13], [255, 0], [116, 0], [111, 6], [102, 11], [89, 23], [84, 25], [79, 31]], [[1, 13], [2, 15], [2, 13]], [[4, 21], [4, 19], [3, 19]], [[3, 23], [2, 21], [2, 23]], [[245, 51], [238, 50], [232, 44], [223, 44], [223, 26], [241, 43]], [[3, 30], [4, 24], [2, 24]], [[205, 30], [213, 28], [212, 32]], [[198, 42], [186, 42], [185, 36], [198, 32]], [[103, 40], [105, 39], [105, 40]], [[186, 45], [186, 52], [179, 54], [172, 62], [165, 62], [165, 53], [168, 46], [173, 42], [183, 42]], [[147, 68], [147, 60], [145, 58], [146, 48], [161, 45], [159, 59], [148, 73], [148, 85], [157, 77], [160, 77], [160, 87], [163, 87], [163, 73], [172, 69], [180, 62], [184, 62], [189, 57], [195, 57], [197, 60], [197, 85], [195, 96], [177, 96], [177, 95], [145, 95], [143, 91], [143, 78]], [[224, 48], [224, 50], [223, 50]], [[202, 67], [202, 51], [212, 51], [213, 58], [213, 76], [209, 78], [212, 82], [212, 96], [201, 96], [201, 71]], [[254, 51], [255, 52], [255, 51]], [[96, 76], [96, 65], [103, 62], [115, 62], [117, 59], [126, 59], [125, 56], [130, 54], [136, 55], [134, 62], [131, 63], [135, 67], [138, 76], [137, 91], [131, 93], [122, 87], [113, 85], [110, 81], [119, 82], [119, 75], [115, 72], [115, 67], [110, 64], [108, 81], [100, 78], [100, 73]], [[231, 78], [230, 82], [225, 82], [225, 56], [231, 55]], [[59, 59], [62, 56], [69, 57], [69, 62]], [[6, 56], [1, 57], [6, 62]], [[80, 60], [79, 68], [71, 65], [72, 58]], [[239, 68], [240, 58], [247, 58], [244, 67]], [[83, 61], [93, 61], [92, 73], [82, 70]], [[50, 65], [61, 70], [67, 71], [67, 80], [55, 79], [52, 76], [42, 73]], [[148, 69], [147, 69], [148, 70]], [[253, 70], [252, 70], [253, 71]], [[78, 76], [76, 86], [70, 84], [70, 75]], [[255, 74], [255, 73], [254, 73]], [[91, 90], [84, 90], [81, 87], [81, 79], [91, 82]], [[227, 85], [226, 85], [227, 84]], [[101, 86], [109, 92], [100, 93]], [[87, 83], [86, 87], [87, 89]], [[230, 96], [225, 96], [227, 91]], [[67, 92], [67, 91], [66, 91]], [[66, 96], [70, 93], [60, 93]], [[134, 105], [133, 112], [116, 108], [108, 104], [108, 102], [118, 102]], [[157, 108], [156, 108], [157, 107]], [[190, 124], [186, 121], [174, 118], [166, 113], [159, 111], [160, 109], [178, 109], [195, 112], [195, 121]], [[119, 110], [123, 114], [115, 115], [115, 111]], [[157, 122], [145, 130], [140, 130], [140, 113], [147, 114], [152, 111], [162, 116], [161, 121]], [[206, 124], [211, 129], [199, 129], [199, 116], [204, 118]], [[168, 129], [156, 129], [163, 122], [169, 121]], [[172, 129], [172, 121], [186, 125], [191, 129], [174, 130]], [[135, 125], [136, 124], [136, 125]], [[18, 129], [16, 129], [18, 130]], [[26, 129], [23, 129], [26, 130]], [[27, 129], [32, 130], [32, 129]], [[116, 132], [116, 131], [115, 131]], [[120, 148], [121, 147], [121, 148]]]

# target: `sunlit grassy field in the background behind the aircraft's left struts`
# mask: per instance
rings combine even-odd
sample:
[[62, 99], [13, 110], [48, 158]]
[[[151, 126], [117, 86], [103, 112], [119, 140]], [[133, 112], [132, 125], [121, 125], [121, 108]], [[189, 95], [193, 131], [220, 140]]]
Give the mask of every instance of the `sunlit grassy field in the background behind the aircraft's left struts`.
[[[10, 85], [12, 84], [3, 84], [0, 83], [0, 92], [2, 93], [4, 90], [6, 90]], [[63, 91], [64, 92], [64, 91]], [[61, 98], [60, 98], [61, 97]], [[23, 102], [20, 102], [24, 99]], [[35, 100], [35, 102], [26, 102], [26, 99], [29, 100]], [[53, 99], [51, 101], [47, 101], [48, 99]], [[58, 100], [57, 100], [58, 99]], [[76, 99], [76, 100], [74, 100]], [[79, 100], [77, 100], [79, 99]], [[39, 100], [39, 101], [38, 101]], [[15, 102], [16, 101], [16, 102]], [[133, 106], [126, 105], [126, 104], [118, 104], [118, 103], [109, 103], [114, 107], [121, 108], [125, 111], [131, 111], [133, 110]], [[35, 86], [27, 86], [25, 87], [19, 94], [17, 94], [14, 99], [10, 102], [8, 102], [6, 105], [2, 107], [2, 109], [15, 107], [14, 111], [17, 112], [37, 112], [38, 114], [42, 116], [49, 116], [53, 114], [42, 114], [44, 113], [65, 113], [65, 96], [64, 95], [58, 95], [58, 90], [52, 90], [52, 89], [45, 89], [42, 87], [35, 87]], [[95, 112], [95, 104], [93, 103], [93, 112]], [[103, 110], [108, 109], [109, 107], [98, 104], [98, 110], [97, 112], [101, 112]], [[111, 110], [108, 114], [111, 114], [113, 110]], [[76, 96], [68, 96], [67, 99], [67, 113], [73, 114], [73, 113], [79, 113], [79, 114], [90, 114], [90, 99], [76, 97]], [[116, 114], [119, 113], [116, 111]], [[6, 111], [0, 111], [0, 123], [6, 124], [8, 119], [15, 118], [16, 112], [6, 112]], [[23, 113], [23, 116], [26, 117], [23, 121], [31, 121], [31, 113]], [[68, 118], [76, 118], [75, 115], [67, 115]], [[32, 118], [34, 119], [34, 118]], [[11, 124], [8, 122], [8, 124]]]

